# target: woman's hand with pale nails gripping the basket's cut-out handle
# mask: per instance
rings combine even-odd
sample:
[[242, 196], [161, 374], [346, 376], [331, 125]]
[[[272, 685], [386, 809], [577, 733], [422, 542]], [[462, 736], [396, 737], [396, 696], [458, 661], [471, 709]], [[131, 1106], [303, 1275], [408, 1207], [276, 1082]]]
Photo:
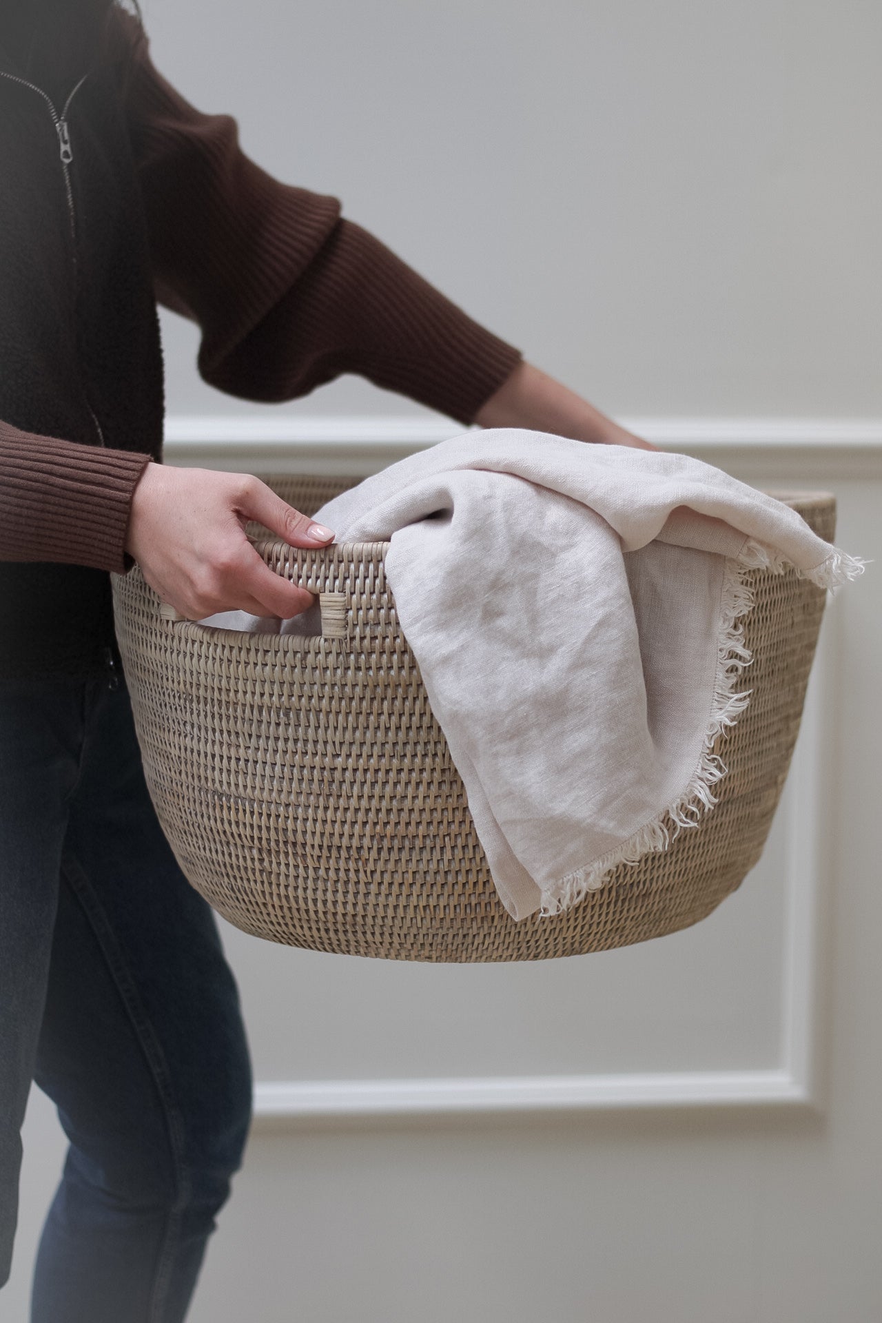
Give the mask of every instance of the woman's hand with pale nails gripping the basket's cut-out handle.
[[312, 593], [263, 564], [245, 528], [257, 519], [290, 546], [325, 546], [333, 533], [247, 474], [148, 464], [132, 497], [126, 550], [149, 586], [181, 615], [217, 611], [287, 619]]

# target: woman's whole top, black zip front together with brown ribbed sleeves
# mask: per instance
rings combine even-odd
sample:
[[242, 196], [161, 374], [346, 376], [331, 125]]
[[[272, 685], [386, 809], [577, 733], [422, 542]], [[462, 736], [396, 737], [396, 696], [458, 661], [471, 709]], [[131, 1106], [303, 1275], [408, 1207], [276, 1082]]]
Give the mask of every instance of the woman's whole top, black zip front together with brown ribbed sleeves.
[[156, 298], [198, 323], [202, 377], [249, 400], [356, 372], [467, 423], [520, 361], [336, 198], [251, 161], [131, 17], [110, 30], [52, 98], [0, 52], [0, 679], [115, 648], [108, 570], [161, 447]]

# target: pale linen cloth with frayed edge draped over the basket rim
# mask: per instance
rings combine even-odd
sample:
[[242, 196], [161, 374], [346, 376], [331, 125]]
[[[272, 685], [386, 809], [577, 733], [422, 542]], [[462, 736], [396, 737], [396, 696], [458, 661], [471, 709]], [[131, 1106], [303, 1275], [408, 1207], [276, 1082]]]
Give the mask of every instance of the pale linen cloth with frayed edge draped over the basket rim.
[[747, 572], [833, 589], [863, 568], [698, 459], [517, 429], [411, 455], [315, 517], [391, 544], [398, 619], [514, 919], [569, 908], [713, 807], [714, 744], [750, 701]]

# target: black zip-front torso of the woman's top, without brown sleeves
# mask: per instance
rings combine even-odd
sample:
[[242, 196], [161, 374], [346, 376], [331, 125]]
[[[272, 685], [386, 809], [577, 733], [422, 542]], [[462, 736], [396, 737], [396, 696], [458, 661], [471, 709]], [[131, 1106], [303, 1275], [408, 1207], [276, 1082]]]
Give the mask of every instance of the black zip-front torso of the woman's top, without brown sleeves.
[[[163, 359], [149, 243], [107, 61], [53, 105], [0, 53], [0, 418], [25, 433], [159, 456]], [[0, 562], [0, 675], [100, 668], [106, 572]]]

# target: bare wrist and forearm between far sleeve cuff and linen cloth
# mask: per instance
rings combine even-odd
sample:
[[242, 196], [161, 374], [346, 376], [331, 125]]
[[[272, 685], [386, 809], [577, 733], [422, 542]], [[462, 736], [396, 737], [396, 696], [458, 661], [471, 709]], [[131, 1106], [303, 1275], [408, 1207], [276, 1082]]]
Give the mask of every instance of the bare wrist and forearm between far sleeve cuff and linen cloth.
[[477, 413], [475, 422], [481, 427], [530, 427], [550, 431], [574, 441], [590, 441], [606, 446], [632, 446], [636, 450], [657, 450], [657, 446], [625, 431], [606, 414], [599, 413], [587, 400], [546, 376], [529, 363], [521, 363], [510, 377], [491, 396]]

